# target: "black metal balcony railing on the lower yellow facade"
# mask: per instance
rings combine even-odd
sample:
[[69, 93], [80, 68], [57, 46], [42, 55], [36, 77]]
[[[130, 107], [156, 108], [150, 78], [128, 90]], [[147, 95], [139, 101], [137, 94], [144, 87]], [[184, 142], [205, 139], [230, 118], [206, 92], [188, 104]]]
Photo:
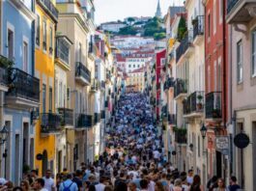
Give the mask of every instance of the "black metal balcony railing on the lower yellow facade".
[[54, 133], [61, 130], [61, 117], [58, 114], [41, 114], [41, 132]]

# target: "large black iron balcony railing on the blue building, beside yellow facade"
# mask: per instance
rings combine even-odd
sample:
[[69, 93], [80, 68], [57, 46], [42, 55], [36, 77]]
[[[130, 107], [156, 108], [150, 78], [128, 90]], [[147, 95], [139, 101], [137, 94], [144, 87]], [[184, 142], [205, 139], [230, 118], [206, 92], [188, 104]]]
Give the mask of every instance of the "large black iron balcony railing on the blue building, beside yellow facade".
[[7, 95], [40, 101], [40, 80], [19, 68], [8, 70], [9, 91]]

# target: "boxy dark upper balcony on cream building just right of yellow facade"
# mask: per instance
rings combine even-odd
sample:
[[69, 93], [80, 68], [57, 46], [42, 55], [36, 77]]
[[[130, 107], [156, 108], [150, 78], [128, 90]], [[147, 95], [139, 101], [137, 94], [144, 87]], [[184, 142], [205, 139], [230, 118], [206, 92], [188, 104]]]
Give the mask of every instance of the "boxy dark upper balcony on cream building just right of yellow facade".
[[56, 58], [70, 65], [70, 46], [64, 38], [56, 38]]

